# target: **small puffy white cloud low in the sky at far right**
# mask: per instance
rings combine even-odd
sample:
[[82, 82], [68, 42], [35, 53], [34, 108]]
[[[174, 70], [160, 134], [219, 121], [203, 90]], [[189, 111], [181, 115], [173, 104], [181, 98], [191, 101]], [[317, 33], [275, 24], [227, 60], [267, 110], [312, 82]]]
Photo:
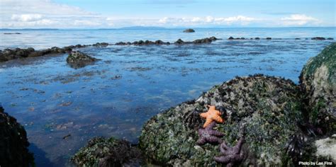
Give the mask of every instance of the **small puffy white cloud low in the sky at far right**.
[[281, 18], [281, 21], [284, 25], [314, 25], [320, 23], [317, 18], [306, 16], [304, 14], [293, 14], [289, 17]]

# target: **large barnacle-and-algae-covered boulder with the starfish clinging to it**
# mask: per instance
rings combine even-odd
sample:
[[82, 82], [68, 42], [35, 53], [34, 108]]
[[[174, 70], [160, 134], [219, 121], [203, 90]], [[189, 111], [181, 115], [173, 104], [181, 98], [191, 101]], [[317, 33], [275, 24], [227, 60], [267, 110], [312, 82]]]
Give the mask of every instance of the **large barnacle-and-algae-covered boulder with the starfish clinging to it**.
[[248, 156], [243, 165], [291, 164], [286, 144], [302, 121], [298, 92], [292, 81], [281, 78], [236, 77], [152, 117], [142, 129], [140, 148], [148, 159], [164, 165], [223, 165], [213, 160], [220, 154], [218, 145], [196, 144], [197, 129], [204, 123], [199, 114], [215, 105], [225, 120], [215, 129], [225, 134], [228, 146], [235, 146], [245, 132], [243, 149]]

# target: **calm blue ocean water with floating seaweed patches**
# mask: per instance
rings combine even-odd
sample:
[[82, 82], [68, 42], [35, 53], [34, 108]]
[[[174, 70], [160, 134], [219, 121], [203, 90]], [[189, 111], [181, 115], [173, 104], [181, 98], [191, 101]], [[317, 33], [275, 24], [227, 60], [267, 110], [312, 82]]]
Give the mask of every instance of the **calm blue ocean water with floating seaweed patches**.
[[[223, 40], [208, 45], [81, 48], [101, 59], [81, 69], [67, 65], [67, 54], [2, 62], [0, 103], [26, 128], [38, 166], [70, 166], [69, 157], [92, 137], [137, 143], [150, 117], [235, 76], [261, 73], [297, 84], [307, 60], [335, 42], [310, 38], [336, 38], [335, 28], [195, 30], [1, 30], [0, 50], [211, 36]], [[22, 34], [4, 35], [9, 32]], [[279, 39], [226, 40], [230, 36]]]

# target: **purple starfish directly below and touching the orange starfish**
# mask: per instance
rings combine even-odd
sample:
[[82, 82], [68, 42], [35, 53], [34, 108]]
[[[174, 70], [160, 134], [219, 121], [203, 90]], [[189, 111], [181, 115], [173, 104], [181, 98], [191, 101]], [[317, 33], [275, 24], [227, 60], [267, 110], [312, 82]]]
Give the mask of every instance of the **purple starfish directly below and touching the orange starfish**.
[[222, 140], [219, 137], [223, 137], [224, 134], [214, 130], [215, 122], [211, 122], [206, 128], [198, 129], [199, 139], [197, 140], [198, 145], [204, 145], [207, 142], [209, 143], [221, 143]]

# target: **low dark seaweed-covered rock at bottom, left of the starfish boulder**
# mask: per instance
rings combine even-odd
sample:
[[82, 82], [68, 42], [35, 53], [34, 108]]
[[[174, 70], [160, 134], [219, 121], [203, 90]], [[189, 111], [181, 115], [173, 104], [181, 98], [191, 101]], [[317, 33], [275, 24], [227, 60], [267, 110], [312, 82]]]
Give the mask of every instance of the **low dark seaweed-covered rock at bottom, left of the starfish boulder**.
[[71, 161], [77, 166], [139, 166], [142, 153], [125, 140], [95, 137]]

